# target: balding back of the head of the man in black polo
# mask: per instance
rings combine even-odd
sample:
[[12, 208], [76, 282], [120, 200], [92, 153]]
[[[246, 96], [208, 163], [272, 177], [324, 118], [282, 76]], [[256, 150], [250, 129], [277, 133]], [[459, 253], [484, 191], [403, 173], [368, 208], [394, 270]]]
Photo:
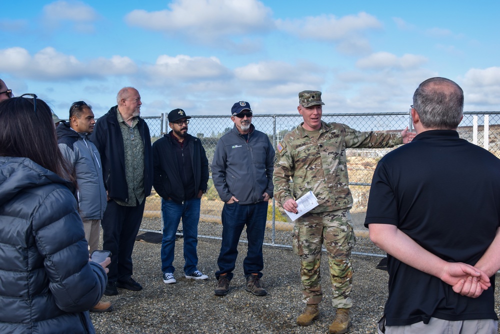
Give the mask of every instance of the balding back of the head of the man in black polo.
[[463, 91], [449, 79], [427, 79], [413, 94], [413, 108], [425, 128], [454, 130], [462, 119]]

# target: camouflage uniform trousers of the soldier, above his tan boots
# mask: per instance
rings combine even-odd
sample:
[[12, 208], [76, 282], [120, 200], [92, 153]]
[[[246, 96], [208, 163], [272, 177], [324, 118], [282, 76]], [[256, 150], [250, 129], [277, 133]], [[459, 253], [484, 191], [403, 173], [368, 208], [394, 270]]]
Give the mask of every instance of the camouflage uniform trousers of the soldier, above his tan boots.
[[302, 301], [317, 304], [322, 299], [320, 263], [323, 241], [328, 254], [333, 307], [350, 308], [353, 273], [350, 254], [356, 237], [348, 209], [305, 214], [295, 221], [292, 246], [294, 253], [300, 256]]

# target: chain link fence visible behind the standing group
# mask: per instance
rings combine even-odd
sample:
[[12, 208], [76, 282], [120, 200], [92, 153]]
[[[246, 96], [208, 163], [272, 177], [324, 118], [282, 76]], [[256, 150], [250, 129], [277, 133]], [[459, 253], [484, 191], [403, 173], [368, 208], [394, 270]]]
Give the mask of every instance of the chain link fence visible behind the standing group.
[[[229, 116], [191, 116], [189, 123], [189, 134], [200, 138], [206, 151], [209, 165], [211, 164], [215, 145], [218, 139], [227, 131], [232, 129], [233, 122]], [[167, 133], [168, 121], [166, 115], [157, 117], [143, 117], [149, 126], [151, 141], [154, 142]], [[325, 122], [337, 122], [347, 124], [349, 127], [359, 131], [387, 131], [399, 132], [405, 127], [412, 127], [409, 112], [406, 113], [377, 113], [377, 114], [323, 114]], [[297, 114], [286, 115], [258, 115], [254, 114], [252, 124], [269, 137], [274, 148], [282, 139], [283, 135], [295, 128], [302, 118]], [[461, 138], [476, 145], [484, 147], [497, 157], [500, 157], [500, 112], [466, 112], [458, 128]], [[368, 236], [368, 230], [364, 228], [364, 216], [370, 182], [376, 164], [380, 158], [391, 151], [392, 148], [383, 149], [347, 149], [347, 167], [349, 175], [349, 187], [352, 192], [354, 203], [351, 214], [354, 221], [356, 235]], [[201, 199], [200, 220], [220, 223], [220, 214], [223, 202], [219, 199], [217, 191], [210, 179], [207, 192]], [[161, 198], [154, 192], [146, 200], [144, 216], [161, 216]], [[291, 230], [293, 226], [287, 220], [274, 200], [269, 201], [267, 215], [269, 227], [266, 229], [264, 243], [275, 244], [275, 230]], [[159, 221], [159, 220], [158, 220]], [[182, 225], [179, 225], [179, 228]], [[158, 223], [158, 232], [161, 232], [162, 223]], [[216, 229], [215, 229], [216, 230]], [[242, 234], [242, 237], [245, 233]], [[208, 237], [220, 237], [220, 235], [208, 235]]]

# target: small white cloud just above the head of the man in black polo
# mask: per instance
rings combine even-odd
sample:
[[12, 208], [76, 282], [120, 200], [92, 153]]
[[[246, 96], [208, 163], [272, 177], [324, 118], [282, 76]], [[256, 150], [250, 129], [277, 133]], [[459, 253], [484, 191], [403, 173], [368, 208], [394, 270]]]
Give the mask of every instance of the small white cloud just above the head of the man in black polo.
[[418, 68], [427, 62], [427, 58], [417, 55], [405, 54], [397, 57], [388, 52], [377, 52], [356, 62], [356, 67], [366, 70], [392, 68], [407, 70]]

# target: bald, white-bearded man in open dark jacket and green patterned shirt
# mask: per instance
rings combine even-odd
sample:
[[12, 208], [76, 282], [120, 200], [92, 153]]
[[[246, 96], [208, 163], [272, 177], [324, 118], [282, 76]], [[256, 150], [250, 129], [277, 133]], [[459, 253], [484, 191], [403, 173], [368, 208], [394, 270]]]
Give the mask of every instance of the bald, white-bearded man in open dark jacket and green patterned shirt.
[[140, 95], [124, 87], [117, 105], [99, 118], [90, 140], [102, 161], [107, 208], [102, 217], [103, 248], [111, 251], [106, 295], [116, 287], [139, 291], [132, 278], [132, 250], [152, 187], [152, 154], [149, 128], [140, 114]]

